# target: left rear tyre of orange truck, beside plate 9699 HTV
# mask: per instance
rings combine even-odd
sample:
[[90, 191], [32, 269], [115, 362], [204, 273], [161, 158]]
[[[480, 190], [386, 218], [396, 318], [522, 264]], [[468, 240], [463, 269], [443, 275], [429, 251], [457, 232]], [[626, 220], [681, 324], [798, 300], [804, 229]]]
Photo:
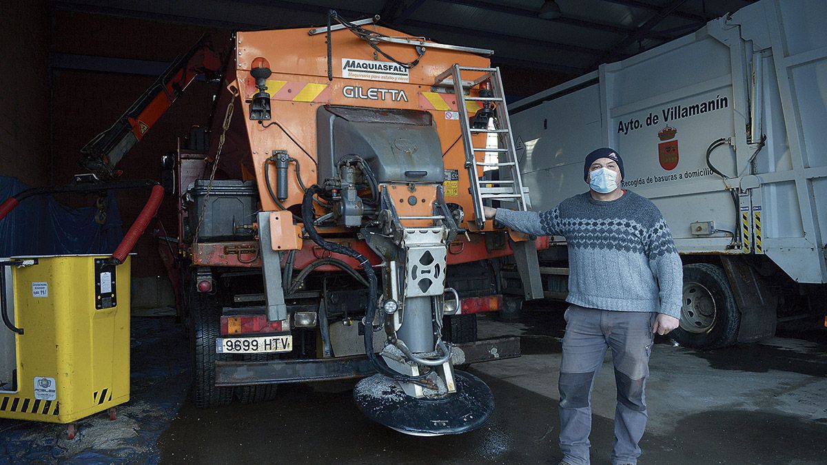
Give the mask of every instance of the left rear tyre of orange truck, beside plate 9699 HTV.
[[193, 398], [198, 408], [227, 405], [232, 387], [215, 386], [215, 340], [219, 334], [221, 310], [212, 296], [194, 292], [189, 309], [190, 352], [193, 357]]

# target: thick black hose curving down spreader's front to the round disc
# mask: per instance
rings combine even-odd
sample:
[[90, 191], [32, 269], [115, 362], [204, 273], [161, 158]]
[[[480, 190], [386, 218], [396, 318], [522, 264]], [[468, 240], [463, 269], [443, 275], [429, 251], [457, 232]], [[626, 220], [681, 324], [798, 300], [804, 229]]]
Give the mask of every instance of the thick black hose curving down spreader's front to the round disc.
[[321, 190], [322, 189], [319, 188], [318, 185], [311, 185], [307, 192], [304, 193], [304, 199], [302, 200], [302, 221], [304, 221], [304, 231], [308, 233], [310, 239], [313, 242], [316, 242], [319, 247], [322, 247], [330, 252], [341, 253], [342, 255], [355, 258], [356, 261], [359, 261], [359, 264], [365, 271], [365, 276], [367, 277], [368, 282], [367, 309], [365, 309], [365, 354], [368, 360], [370, 360], [370, 363], [373, 364], [377, 372], [380, 372], [389, 378], [397, 381], [419, 382], [419, 380], [426, 375], [408, 376], [399, 372], [394, 372], [390, 369], [390, 367], [385, 365], [384, 362], [380, 361], [379, 357], [376, 357], [376, 354], [373, 352], [373, 320], [376, 316], [377, 290], [376, 273], [370, 266], [370, 261], [368, 261], [364, 255], [351, 249], [351, 247], [346, 247], [342, 244], [337, 244], [336, 242], [325, 241], [323, 237], [319, 236], [318, 232], [316, 232], [316, 228], [313, 226], [313, 220], [315, 220], [316, 216], [313, 213], [313, 195], [318, 194]]

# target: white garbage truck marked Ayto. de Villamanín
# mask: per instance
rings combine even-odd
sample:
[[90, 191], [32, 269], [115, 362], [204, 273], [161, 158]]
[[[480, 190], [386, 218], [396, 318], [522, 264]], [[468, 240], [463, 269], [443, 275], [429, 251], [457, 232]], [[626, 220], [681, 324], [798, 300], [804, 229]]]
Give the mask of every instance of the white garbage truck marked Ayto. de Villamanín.
[[[653, 200], [684, 263], [691, 348], [824, 324], [827, 3], [761, 0], [700, 30], [510, 105], [534, 209], [587, 189], [586, 153], [614, 148], [622, 187]], [[543, 292], [566, 295], [562, 237]], [[505, 287], [519, 290], [506, 266]]]

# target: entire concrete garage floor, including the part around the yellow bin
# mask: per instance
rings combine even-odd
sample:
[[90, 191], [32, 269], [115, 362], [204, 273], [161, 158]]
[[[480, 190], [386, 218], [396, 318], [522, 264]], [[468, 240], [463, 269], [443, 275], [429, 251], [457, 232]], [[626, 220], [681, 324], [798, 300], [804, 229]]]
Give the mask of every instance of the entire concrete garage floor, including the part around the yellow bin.
[[[519, 322], [480, 321], [480, 338], [519, 335], [523, 357], [469, 370], [495, 412], [481, 429], [418, 438], [366, 419], [355, 381], [280, 386], [280, 399], [196, 410], [172, 319], [133, 319], [132, 400], [117, 421], [65, 425], [0, 419], [0, 463], [557, 463], [562, 312], [535, 305]], [[166, 336], [166, 337], [165, 337]], [[641, 463], [827, 463], [827, 332], [712, 352], [657, 340]], [[609, 463], [614, 376], [607, 359], [593, 395], [593, 463]]]

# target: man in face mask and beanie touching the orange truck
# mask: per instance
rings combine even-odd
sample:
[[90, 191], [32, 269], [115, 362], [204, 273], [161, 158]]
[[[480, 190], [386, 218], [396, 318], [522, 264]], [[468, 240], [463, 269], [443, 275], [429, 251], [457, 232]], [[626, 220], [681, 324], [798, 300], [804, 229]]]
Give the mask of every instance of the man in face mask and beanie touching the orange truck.
[[591, 390], [612, 350], [617, 407], [613, 464], [634, 464], [646, 427], [644, 387], [654, 333], [677, 328], [681, 316], [681, 258], [657, 207], [620, 189], [623, 159], [600, 148], [586, 156], [590, 190], [545, 212], [485, 208], [517, 231], [566, 237], [569, 256], [566, 335], [560, 366], [561, 465], [589, 459]]

